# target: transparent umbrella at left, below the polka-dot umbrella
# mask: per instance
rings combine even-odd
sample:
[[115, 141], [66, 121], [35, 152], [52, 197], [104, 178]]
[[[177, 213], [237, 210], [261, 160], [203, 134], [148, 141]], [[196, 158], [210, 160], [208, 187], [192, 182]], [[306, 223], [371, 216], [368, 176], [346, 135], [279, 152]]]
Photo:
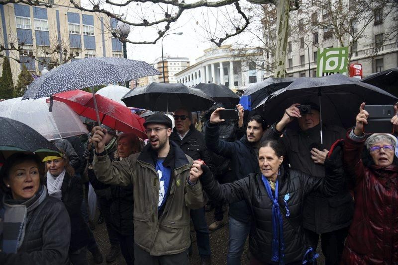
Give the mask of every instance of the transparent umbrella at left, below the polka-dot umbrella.
[[48, 140], [88, 133], [79, 116], [65, 103], [54, 101], [49, 112], [46, 98], [21, 99], [0, 102], [0, 116], [26, 124]]

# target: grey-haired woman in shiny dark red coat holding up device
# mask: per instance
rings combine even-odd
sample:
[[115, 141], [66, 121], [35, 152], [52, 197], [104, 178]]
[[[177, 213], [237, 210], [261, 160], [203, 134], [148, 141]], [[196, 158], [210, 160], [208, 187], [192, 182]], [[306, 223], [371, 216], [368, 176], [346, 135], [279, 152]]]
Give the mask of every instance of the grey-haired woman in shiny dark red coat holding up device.
[[[344, 165], [355, 176], [355, 210], [342, 264], [398, 264], [397, 138], [375, 133], [366, 139], [363, 127], [369, 113], [364, 107], [362, 103], [355, 129], [344, 144]], [[398, 132], [397, 106], [395, 111], [391, 122]], [[361, 159], [365, 146], [368, 162]]]

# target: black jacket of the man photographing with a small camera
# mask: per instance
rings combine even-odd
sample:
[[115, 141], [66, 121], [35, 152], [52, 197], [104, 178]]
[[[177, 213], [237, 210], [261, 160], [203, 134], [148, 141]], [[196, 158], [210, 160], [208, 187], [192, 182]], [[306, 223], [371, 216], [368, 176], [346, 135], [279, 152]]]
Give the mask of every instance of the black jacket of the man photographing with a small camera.
[[[325, 176], [325, 167], [315, 164], [311, 158], [312, 147], [330, 150], [331, 145], [345, 136], [345, 130], [336, 126], [324, 126], [322, 130], [323, 146], [320, 144], [320, 125], [306, 131], [287, 129], [282, 133], [273, 124], [264, 133], [263, 139], [278, 140], [285, 155], [284, 164], [298, 169], [310, 176]], [[340, 183], [339, 193], [332, 198], [313, 192], [309, 194], [303, 207], [303, 227], [317, 234], [332, 232], [350, 225], [354, 211], [354, 201], [349, 193], [348, 185]]]

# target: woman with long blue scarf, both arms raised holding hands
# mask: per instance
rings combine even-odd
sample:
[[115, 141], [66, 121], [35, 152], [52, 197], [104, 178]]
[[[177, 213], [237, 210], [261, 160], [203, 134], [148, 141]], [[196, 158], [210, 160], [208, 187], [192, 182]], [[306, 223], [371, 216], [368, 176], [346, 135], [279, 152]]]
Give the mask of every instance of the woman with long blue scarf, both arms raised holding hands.
[[331, 148], [324, 163], [325, 178], [311, 177], [298, 170], [285, 170], [278, 141], [266, 140], [259, 148], [261, 173], [220, 185], [207, 166], [194, 161], [190, 181], [196, 183], [200, 177], [204, 191], [212, 199], [246, 201], [252, 214], [251, 265], [311, 264], [317, 255], [305, 244], [301, 226], [303, 199], [315, 190], [330, 196], [338, 192], [344, 181], [340, 150], [340, 145]]

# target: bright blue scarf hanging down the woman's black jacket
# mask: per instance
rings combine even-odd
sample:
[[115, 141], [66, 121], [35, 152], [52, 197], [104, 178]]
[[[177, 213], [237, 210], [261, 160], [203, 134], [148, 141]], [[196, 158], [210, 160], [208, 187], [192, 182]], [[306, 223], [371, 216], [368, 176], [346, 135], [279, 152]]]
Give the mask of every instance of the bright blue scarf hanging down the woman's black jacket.
[[273, 201], [272, 205], [272, 258], [271, 261], [279, 262], [279, 264], [284, 264], [284, 251], [285, 243], [283, 240], [283, 222], [282, 214], [279, 209], [278, 203], [278, 188], [279, 182], [276, 181], [275, 196], [272, 195], [272, 190], [270, 183], [267, 178], [262, 176], [262, 180], [267, 191], [268, 197]]

